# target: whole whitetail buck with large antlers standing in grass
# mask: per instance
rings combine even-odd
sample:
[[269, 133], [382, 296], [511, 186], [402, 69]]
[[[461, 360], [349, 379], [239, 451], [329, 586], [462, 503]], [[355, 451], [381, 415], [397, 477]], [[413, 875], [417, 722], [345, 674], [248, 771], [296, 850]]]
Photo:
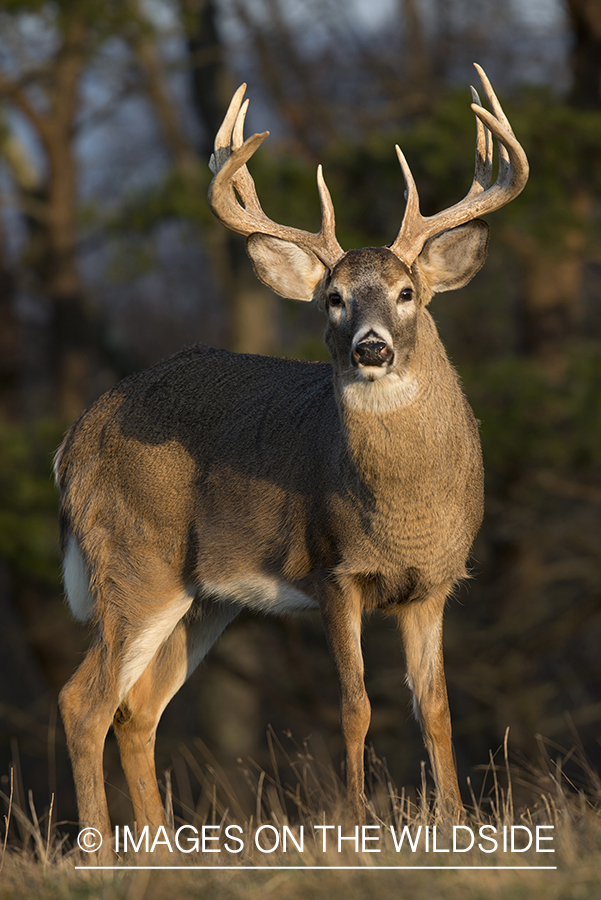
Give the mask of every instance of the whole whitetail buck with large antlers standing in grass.
[[[257, 276], [325, 314], [331, 364], [195, 347], [126, 378], [58, 453], [65, 585], [95, 638], [61, 712], [82, 823], [108, 834], [103, 746], [114, 725], [136, 821], [164, 822], [154, 766], [161, 714], [244, 608], [319, 608], [340, 683], [351, 816], [365, 816], [370, 705], [361, 618], [397, 617], [407, 681], [442, 813], [460, 814], [442, 617], [482, 517], [478, 429], [426, 307], [486, 254], [475, 216], [513, 199], [525, 154], [479, 69], [467, 196], [430, 218], [407, 186], [389, 247], [345, 253], [318, 170], [319, 234], [272, 222], [246, 167], [235, 94], [215, 142], [213, 212], [247, 235]], [[492, 182], [493, 137], [499, 172]], [[107, 842], [105, 842], [106, 844]]]

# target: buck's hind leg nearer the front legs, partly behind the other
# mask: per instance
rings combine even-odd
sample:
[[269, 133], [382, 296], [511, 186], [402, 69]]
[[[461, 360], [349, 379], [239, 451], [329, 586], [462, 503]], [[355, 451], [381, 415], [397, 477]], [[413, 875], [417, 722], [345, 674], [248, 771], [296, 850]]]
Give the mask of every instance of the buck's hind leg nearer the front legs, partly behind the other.
[[237, 614], [230, 604], [199, 599], [119, 705], [113, 725], [139, 830], [148, 825], [154, 831], [165, 824], [154, 762], [161, 715]]

